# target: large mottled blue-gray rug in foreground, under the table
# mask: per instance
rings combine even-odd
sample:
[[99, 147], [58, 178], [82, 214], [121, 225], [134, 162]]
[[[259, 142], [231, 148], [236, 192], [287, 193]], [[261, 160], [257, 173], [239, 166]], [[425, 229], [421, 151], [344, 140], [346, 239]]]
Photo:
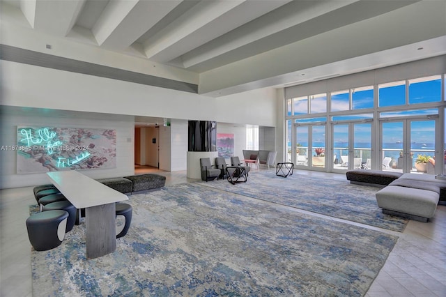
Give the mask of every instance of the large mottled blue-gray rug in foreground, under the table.
[[364, 296], [397, 242], [197, 183], [125, 203], [112, 254], [86, 260], [84, 223], [31, 251], [33, 296]]

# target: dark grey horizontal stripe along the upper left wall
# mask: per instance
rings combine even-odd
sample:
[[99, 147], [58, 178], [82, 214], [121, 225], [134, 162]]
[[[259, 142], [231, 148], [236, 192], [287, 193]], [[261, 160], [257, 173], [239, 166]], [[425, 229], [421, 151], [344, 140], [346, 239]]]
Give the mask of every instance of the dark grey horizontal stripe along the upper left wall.
[[198, 93], [197, 84], [190, 84], [174, 79], [156, 77], [153, 75], [136, 73], [119, 68], [102, 66], [95, 63], [63, 58], [61, 56], [54, 56], [52, 54], [44, 54], [41, 52], [24, 50], [20, 47], [12, 47], [10, 45], [0, 45], [0, 59], [5, 61], [29, 64], [33, 66], [69, 71], [72, 73], [82, 73], [84, 75], [94, 75], [110, 79], [118, 79], [125, 82], [134, 82], [136, 84], [158, 86], [165, 89]]

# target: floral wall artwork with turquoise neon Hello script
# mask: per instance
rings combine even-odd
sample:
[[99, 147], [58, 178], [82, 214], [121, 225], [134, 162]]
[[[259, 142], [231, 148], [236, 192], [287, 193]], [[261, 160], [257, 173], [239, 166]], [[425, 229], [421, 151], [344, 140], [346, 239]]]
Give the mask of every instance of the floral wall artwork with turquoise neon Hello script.
[[17, 127], [17, 173], [116, 167], [116, 130]]

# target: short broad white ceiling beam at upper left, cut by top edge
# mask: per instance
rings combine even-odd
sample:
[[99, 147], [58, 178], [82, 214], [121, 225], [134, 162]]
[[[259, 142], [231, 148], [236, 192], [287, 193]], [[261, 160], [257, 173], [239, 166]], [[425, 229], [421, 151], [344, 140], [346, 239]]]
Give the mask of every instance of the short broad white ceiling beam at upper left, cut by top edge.
[[[24, 1], [28, 2], [28, 1]], [[33, 28], [55, 36], [65, 37], [74, 26], [85, 0], [76, 1], [30, 1], [35, 3]], [[23, 11], [23, 10], [22, 10]]]

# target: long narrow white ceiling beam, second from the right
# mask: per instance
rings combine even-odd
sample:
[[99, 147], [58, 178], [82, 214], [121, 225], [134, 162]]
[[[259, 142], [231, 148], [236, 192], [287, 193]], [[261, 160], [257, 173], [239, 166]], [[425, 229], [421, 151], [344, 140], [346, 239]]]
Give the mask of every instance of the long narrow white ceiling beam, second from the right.
[[272, 36], [272, 34], [357, 1], [292, 1], [268, 15], [259, 17], [259, 19], [249, 22], [221, 38], [215, 38], [206, 45], [184, 54], [181, 56], [183, 65], [185, 68], [196, 66], [226, 52], [231, 52], [249, 43], [254, 43], [256, 40]]

